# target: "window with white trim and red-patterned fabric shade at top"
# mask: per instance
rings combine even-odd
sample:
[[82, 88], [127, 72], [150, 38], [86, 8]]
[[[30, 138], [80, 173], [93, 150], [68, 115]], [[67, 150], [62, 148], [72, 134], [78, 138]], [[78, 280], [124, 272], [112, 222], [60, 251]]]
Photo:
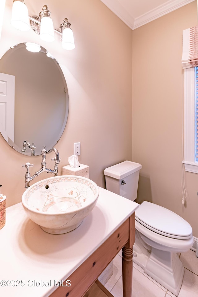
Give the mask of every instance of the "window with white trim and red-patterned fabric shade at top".
[[183, 30], [184, 73], [183, 163], [198, 173], [198, 26]]

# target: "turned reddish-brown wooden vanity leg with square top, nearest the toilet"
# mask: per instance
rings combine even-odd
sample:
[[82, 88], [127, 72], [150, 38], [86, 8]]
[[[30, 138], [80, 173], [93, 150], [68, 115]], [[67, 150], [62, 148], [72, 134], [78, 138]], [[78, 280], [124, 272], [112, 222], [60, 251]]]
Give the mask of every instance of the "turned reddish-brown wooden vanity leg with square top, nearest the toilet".
[[135, 242], [135, 213], [129, 217], [129, 240], [123, 247], [123, 297], [132, 295], [133, 244]]

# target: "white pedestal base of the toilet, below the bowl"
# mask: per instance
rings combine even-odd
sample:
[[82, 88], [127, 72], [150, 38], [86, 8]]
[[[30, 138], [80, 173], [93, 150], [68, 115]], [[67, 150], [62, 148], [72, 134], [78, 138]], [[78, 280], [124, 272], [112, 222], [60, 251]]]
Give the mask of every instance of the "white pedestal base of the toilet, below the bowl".
[[151, 278], [178, 296], [183, 281], [184, 268], [176, 253], [151, 248], [151, 251], [147, 251], [145, 255], [135, 243], [133, 261], [142, 267]]

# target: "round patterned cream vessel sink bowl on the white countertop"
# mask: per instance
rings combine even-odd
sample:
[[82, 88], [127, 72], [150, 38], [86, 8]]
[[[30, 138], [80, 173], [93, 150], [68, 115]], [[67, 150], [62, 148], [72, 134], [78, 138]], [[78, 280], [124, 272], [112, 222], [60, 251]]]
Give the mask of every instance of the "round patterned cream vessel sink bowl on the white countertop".
[[22, 196], [28, 217], [50, 234], [77, 228], [92, 211], [99, 196], [96, 183], [85, 177], [62, 175], [43, 179]]

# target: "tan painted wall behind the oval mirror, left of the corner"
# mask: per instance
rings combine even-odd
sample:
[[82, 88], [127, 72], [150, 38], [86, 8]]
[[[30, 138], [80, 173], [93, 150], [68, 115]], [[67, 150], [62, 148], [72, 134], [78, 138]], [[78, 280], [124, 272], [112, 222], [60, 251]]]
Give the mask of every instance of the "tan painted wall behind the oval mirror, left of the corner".
[[[70, 105], [66, 129], [56, 145], [61, 158], [59, 175], [73, 154], [73, 143], [80, 142], [80, 163], [89, 166], [90, 179], [105, 187], [104, 169], [132, 159], [132, 31], [99, 0], [25, 3], [30, 15], [38, 15], [47, 4], [56, 29], [67, 17], [76, 48], [62, 49], [58, 34], [53, 43], [47, 43], [32, 30], [18, 32], [12, 28], [12, 2], [7, 0], [0, 56], [11, 45], [33, 41], [63, 65]], [[47, 156], [47, 165], [54, 167], [51, 157], [53, 153]], [[21, 165], [33, 163], [30, 169], [34, 174], [40, 168], [41, 156], [23, 156], [0, 135], [0, 159], [1, 193], [7, 196], [9, 206], [19, 202], [24, 192], [25, 168]], [[48, 176], [41, 174], [39, 178]]]

